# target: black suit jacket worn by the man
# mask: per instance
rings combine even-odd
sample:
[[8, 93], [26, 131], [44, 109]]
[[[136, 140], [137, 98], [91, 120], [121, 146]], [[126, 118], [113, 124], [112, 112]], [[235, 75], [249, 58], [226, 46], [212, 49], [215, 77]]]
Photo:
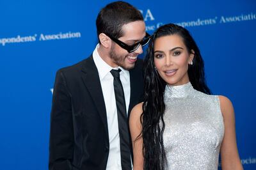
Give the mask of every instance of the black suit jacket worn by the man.
[[[142, 61], [129, 71], [132, 107], [143, 93]], [[106, 169], [108, 122], [92, 56], [56, 73], [52, 97], [49, 169]]]

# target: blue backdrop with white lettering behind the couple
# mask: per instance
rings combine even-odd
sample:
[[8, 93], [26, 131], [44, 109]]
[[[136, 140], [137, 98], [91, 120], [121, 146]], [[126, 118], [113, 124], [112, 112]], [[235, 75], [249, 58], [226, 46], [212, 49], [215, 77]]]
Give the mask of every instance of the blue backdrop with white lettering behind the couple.
[[[56, 70], [92, 53], [95, 19], [109, 2], [0, 1], [1, 169], [47, 169]], [[256, 169], [256, 2], [128, 2], [141, 10], [150, 34], [169, 22], [189, 29], [205, 60], [209, 87], [234, 104], [244, 169]]]

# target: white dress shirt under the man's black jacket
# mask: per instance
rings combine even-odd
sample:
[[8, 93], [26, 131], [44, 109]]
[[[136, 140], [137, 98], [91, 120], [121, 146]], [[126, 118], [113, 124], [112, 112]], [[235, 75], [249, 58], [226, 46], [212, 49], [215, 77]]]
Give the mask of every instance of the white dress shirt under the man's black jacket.
[[104, 102], [107, 112], [108, 120], [108, 135], [109, 135], [109, 155], [107, 170], [122, 169], [121, 155], [120, 155], [120, 137], [118, 132], [118, 118], [116, 111], [116, 98], [113, 85], [113, 75], [110, 73], [112, 69], [117, 70], [120, 68], [120, 80], [124, 88], [126, 111], [128, 112], [131, 88], [130, 88], [130, 74], [129, 71], [124, 70], [122, 67], [112, 68], [99, 56], [99, 44], [93, 51], [93, 60], [97, 67], [100, 77], [100, 84], [103, 92]]

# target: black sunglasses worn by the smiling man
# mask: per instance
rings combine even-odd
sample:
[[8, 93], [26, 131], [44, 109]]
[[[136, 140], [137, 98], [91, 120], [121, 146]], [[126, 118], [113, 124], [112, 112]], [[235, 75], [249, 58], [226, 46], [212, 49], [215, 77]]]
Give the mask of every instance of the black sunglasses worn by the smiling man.
[[111, 38], [111, 40], [113, 40], [113, 42], [117, 43], [120, 47], [127, 50], [128, 52], [134, 52], [135, 50], [137, 50], [140, 47], [140, 45], [142, 47], [147, 45], [147, 43], [150, 42], [150, 38], [151, 38], [151, 36], [148, 33], [146, 33], [146, 36], [140, 42], [136, 42], [133, 45], [127, 45], [126, 43], [114, 38], [111, 35], [108, 35], [108, 34], [106, 34], [106, 35], [109, 36], [109, 38]]

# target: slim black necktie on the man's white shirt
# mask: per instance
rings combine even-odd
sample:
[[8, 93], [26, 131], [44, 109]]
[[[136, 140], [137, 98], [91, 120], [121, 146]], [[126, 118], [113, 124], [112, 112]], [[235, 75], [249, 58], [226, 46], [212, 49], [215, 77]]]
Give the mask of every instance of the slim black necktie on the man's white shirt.
[[118, 130], [120, 136], [120, 151], [122, 170], [131, 170], [131, 153], [129, 141], [129, 127], [125, 107], [124, 89], [120, 81], [120, 68], [111, 70], [114, 77], [114, 89], [116, 98], [116, 110], [118, 118]]

